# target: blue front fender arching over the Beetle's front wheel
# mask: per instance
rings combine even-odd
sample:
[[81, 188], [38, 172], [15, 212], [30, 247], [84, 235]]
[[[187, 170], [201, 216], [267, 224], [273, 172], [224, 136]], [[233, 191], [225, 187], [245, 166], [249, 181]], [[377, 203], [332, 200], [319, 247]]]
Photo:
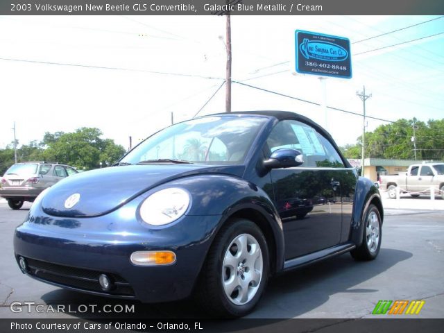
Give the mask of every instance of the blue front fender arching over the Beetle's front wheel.
[[[282, 221], [271, 198], [255, 184], [231, 175], [211, 174], [181, 178], [170, 182], [171, 186], [187, 189], [193, 198], [189, 215], [220, 216], [207, 225], [209, 246], [223, 225], [232, 219], [248, 219], [255, 223], [266, 238], [270, 253], [271, 272], [284, 267], [284, 233]], [[204, 189], [204, 190], [203, 190]], [[205, 257], [207, 253], [205, 253]]]

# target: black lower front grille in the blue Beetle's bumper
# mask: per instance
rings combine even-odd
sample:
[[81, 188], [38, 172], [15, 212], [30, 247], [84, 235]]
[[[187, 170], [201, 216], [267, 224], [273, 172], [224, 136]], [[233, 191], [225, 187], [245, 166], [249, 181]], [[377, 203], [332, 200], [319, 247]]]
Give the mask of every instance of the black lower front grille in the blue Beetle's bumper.
[[[28, 264], [27, 273], [34, 275], [36, 278], [85, 291], [95, 291], [115, 296], [134, 296], [130, 284], [117, 274], [42, 262], [31, 258], [25, 259]], [[101, 289], [99, 284], [99, 275], [101, 274], [106, 274], [111, 278], [114, 284], [112, 290], [103, 291]]]

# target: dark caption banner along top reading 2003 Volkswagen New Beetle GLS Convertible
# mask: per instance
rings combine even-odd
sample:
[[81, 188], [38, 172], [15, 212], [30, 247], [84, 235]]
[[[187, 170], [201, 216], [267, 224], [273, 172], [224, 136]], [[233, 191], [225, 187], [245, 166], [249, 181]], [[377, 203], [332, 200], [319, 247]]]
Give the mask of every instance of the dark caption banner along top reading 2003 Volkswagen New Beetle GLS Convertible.
[[0, 15], [443, 15], [436, 0], [10, 0]]

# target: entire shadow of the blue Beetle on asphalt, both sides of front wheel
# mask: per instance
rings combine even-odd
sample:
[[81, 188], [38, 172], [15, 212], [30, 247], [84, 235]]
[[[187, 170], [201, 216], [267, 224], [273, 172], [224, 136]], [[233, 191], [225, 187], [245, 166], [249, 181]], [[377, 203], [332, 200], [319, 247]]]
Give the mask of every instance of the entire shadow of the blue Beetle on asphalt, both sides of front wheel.
[[[246, 318], [294, 318], [316, 309], [336, 293], [374, 293], [376, 289], [354, 287], [412, 256], [406, 251], [381, 248], [378, 258], [371, 262], [355, 262], [350, 255], [345, 254], [278, 275], [268, 283], [266, 293], [258, 307]], [[56, 289], [44, 294], [42, 300], [47, 305], [70, 305], [71, 309], [76, 309], [78, 305], [96, 305], [94, 312], [70, 311], [69, 315], [75, 318], [211, 318], [191, 299], [144, 304], [134, 300], [91, 296]], [[117, 311], [99, 312], [105, 305], [107, 309]], [[126, 305], [128, 307], [134, 305], [135, 311], [119, 312]]]

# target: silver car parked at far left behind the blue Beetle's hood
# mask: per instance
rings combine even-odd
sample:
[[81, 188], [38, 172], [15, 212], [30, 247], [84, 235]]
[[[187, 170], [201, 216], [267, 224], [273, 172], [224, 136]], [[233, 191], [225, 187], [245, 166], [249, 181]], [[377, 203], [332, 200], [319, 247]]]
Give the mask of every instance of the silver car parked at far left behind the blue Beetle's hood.
[[16, 163], [1, 178], [0, 197], [12, 210], [19, 210], [25, 201], [33, 202], [44, 189], [74, 173], [73, 167], [57, 162]]

